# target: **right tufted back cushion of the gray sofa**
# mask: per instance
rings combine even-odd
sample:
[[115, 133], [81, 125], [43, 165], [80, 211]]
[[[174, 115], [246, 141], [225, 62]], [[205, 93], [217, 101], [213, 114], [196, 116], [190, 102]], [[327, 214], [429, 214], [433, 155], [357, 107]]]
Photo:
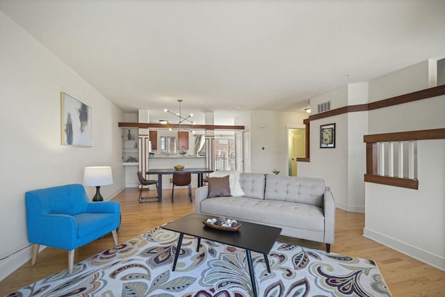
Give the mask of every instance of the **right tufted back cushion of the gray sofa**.
[[266, 176], [264, 199], [299, 202], [323, 207], [325, 181], [309, 177]]

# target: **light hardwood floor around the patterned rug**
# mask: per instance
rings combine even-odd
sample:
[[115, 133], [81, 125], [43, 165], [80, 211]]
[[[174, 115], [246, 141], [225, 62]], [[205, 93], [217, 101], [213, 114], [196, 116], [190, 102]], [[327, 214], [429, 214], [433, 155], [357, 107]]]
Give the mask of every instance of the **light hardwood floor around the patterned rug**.
[[[175, 191], [175, 203], [170, 202], [170, 190], [163, 191], [163, 202], [138, 203], [137, 188], [127, 188], [113, 200], [121, 203], [122, 225], [118, 232], [120, 242], [142, 234], [170, 220], [195, 211], [188, 201], [186, 188]], [[154, 194], [150, 191], [149, 195]], [[445, 296], [445, 272], [411, 257], [382, 246], [362, 236], [364, 214], [337, 209], [335, 243], [331, 252], [374, 260], [393, 296]], [[323, 243], [280, 236], [280, 241], [307, 248], [324, 250]], [[106, 236], [76, 249], [74, 263], [113, 246], [113, 237]], [[45, 248], [38, 255], [35, 266], [31, 261], [0, 282], [0, 296], [67, 268], [68, 252]]]

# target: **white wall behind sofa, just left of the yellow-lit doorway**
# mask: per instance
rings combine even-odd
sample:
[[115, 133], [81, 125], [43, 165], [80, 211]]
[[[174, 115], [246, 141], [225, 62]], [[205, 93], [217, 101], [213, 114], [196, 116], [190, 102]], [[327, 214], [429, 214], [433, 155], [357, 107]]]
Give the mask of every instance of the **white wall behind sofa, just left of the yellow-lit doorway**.
[[286, 127], [304, 127], [305, 118], [305, 112], [250, 111], [250, 124], [239, 124], [250, 126], [250, 172], [272, 173], [277, 169], [286, 174]]

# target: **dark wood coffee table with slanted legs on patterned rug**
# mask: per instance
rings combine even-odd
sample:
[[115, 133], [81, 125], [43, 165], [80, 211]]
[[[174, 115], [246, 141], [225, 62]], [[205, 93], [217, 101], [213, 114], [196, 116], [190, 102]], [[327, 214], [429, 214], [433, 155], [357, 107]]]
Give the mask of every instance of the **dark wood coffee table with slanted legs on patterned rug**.
[[209, 239], [229, 246], [245, 249], [245, 255], [248, 259], [250, 281], [252, 282], [252, 291], [257, 296], [257, 287], [255, 286], [255, 277], [252, 266], [252, 257], [250, 252], [261, 252], [266, 261], [267, 271], [270, 273], [268, 253], [273, 247], [277, 236], [280, 235], [281, 228], [270, 227], [266, 225], [254, 224], [237, 220], [241, 223], [241, 228], [236, 232], [216, 230], [202, 224], [202, 220], [211, 216], [202, 214], [189, 214], [184, 218], [179, 218], [173, 222], [163, 225], [163, 229], [179, 233], [177, 250], [175, 253], [175, 262], [173, 262], [173, 271], [176, 268], [176, 262], [181, 249], [182, 238], [184, 234], [197, 237], [197, 251], [200, 248], [201, 239]]

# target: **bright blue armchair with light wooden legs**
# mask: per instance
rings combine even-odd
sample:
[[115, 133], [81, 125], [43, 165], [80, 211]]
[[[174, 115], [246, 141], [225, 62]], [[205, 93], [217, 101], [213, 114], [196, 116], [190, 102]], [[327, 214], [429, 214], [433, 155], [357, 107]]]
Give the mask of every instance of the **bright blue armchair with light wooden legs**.
[[67, 184], [26, 192], [28, 239], [33, 243], [31, 264], [39, 246], [68, 250], [68, 273], [72, 273], [74, 250], [120, 226], [120, 204], [91, 202], [81, 184]]

